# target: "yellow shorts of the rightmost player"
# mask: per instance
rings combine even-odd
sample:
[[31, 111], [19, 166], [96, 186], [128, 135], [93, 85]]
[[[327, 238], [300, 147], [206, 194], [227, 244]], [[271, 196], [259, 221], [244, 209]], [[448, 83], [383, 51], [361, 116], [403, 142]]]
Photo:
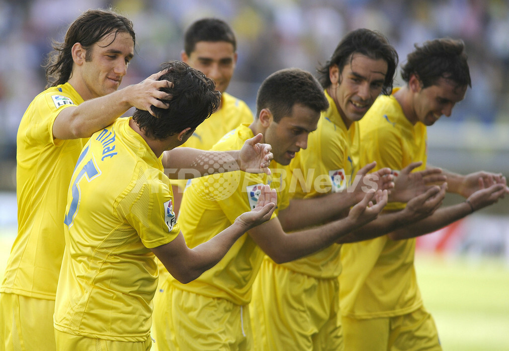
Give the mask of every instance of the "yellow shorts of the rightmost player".
[[394, 317], [342, 320], [347, 350], [442, 349], [435, 321], [423, 307]]

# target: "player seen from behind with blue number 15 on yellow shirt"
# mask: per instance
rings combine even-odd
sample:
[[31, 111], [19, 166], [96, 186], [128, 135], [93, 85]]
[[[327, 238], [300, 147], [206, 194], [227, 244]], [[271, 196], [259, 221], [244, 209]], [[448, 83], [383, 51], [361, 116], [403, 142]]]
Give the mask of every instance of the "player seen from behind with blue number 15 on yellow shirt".
[[[210, 163], [199, 161], [208, 158], [217, 163], [212, 168], [263, 170], [272, 154], [270, 145], [254, 142], [261, 135], [250, 138], [247, 149], [229, 152], [230, 158], [188, 148], [174, 153], [217, 109], [220, 93], [210, 78], [183, 62], [169, 62], [163, 72], [160, 79], [174, 83], [163, 89], [172, 96], [167, 109], [152, 108], [156, 118], [136, 109], [132, 118], [96, 132], [74, 169], [54, 314], [59, 350], [149, 350], [157, 287], [154, 254], [187, 283], [213, 267], [246, 230], [269, 220], [275, 209], [275, 190], [265, 186], [257, 204], [231, 225], [200, 246], [186, 246], [164, 168], [178, 173], [194, 167], [205, 174]], [[259, 157], [245, 163], [243, 151], [249, 149], [259, 150]]]

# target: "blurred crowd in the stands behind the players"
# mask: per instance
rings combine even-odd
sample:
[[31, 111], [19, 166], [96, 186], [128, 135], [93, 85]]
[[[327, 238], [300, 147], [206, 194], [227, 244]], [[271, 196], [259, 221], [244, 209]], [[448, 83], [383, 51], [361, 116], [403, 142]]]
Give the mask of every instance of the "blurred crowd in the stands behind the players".
[[[472, 89], [430, 132], [430, 162], [456, 171], [507, 172], [509, 162], [509, 3], [506, 0], [0, 0], [0, 190], [15, 189], [16, 132], [45, 86], [41, 64], [82, 11], [112, 7], [134, 22], [136, 55], [122, 86], [180, 58], [194, 20], [228, 21], [238, 64], [228, 89], [254, 110], [261, 81], [298, 67], [315, 73], [338, 41], [358, 27], [379, 30], [405, 62], [415, 43], [461, 38]], [[402, 80], [398, 77], [395, 85]], [[121, 87], [122, 87], [121, 86]], [[438, 127], [441, 126], [441, 127]]]

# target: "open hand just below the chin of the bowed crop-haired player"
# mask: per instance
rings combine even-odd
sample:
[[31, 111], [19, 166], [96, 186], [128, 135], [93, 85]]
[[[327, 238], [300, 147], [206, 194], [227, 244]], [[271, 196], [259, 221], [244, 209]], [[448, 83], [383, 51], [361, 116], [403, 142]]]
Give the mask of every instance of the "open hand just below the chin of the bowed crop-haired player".
[[240, 149], [238, 164], [240, 170], [250, 173], [270, 174], [270, 161], [274, 158], [270, 144], [261, 143], [263, 134], [247, 139]]

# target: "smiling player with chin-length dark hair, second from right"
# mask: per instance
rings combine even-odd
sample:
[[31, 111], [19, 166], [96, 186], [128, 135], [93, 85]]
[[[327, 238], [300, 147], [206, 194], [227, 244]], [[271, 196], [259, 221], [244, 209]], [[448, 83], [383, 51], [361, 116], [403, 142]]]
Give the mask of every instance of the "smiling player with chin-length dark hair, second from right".
[[[371, 161], [359, 161], [359, 150], [364, 148], [359, 140], [359, 121], [381, 93], [390, 93], [397, 64], [398, 54], [387, 39], [378, 32], [361, 28], [348, 33], [330, 60], [319, 69], [329, 108], [322, 113], [317, 130], [309, 136], [308, 148], [292, 161], [294, 177], [302, 180], [290, 200], [293, 212], [301, 207], [305, 209], [307, 202], [314, 201], [315, 216], [330, 220], [333, 216], [341, 217], [341, 206], [348, 209], [359, 200], [362, 192], [355, 191], [359, 187], [357, 181], [374, 167]], [[403, 170], [400, 184], [391, 190], [389, 198], [418, 195], [408, 193], [410, 185], [401, 184], [404, 179], [443, 180], [437, 178], [440, 171], [437, 169], [410, 174], [416, 166], [412, 164]], [[416, 187], [415, 192], [425, 190], [425, 185], [415, 179], [412, 186]], [[343, 203], [332, 204], [333, 196], [328, 193], [343, 195], [335, 196]], [[374, 228], [371, 232], [381, 232], [388, 231], [394, 223], [401, 225], [420, 219], [434, 211], [442, 197], [438, 187], [430, 189], [416, 196], [414, 207], [398, 218], [390, 221], [383, 218], [382, 223], [379, 216], [346, 237], [361, 240], [358, 231], [365, 231], [367, 226]], [[297, 216], [292, 221], [295, 228], [309, 225], [299, 218], [305, 216]], [[337, 280], [342, 270], [340, 250], [341, 245], [331, 245], [282, 265], [265, 257], [254, 282], [250, 304], [253, 334], [262, 349], [342, 349]]]

